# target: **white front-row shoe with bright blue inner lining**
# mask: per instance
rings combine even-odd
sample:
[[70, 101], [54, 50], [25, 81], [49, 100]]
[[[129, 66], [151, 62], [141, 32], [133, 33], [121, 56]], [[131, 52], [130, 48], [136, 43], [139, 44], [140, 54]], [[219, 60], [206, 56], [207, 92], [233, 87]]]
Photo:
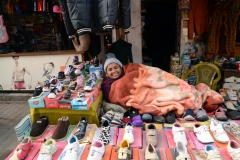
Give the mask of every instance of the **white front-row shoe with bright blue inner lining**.
[[75, 135], [68, 139], [68, 144], [64, 149], [61, 160], [77, 160], [78, 159], [79, 142]]

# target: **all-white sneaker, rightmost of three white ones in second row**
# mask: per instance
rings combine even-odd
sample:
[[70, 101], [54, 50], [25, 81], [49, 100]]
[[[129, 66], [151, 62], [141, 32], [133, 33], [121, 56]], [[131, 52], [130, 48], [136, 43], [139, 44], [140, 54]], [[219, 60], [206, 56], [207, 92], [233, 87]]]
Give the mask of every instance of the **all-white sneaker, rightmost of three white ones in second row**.
[[222, 125], [213, 118], [210, 123], [210, 131], [213, 133], [213, 137], [216, 141], [221, 143], [227, 143], [229, 141], [227, 133], [224, 131]]

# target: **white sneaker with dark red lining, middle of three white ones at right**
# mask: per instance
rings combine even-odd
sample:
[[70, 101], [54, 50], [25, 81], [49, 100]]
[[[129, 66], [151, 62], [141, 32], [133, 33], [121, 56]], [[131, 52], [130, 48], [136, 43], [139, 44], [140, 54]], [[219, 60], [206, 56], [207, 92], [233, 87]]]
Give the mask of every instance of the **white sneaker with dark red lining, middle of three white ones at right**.
[[209, 133], [209, 129], [206, 125], [196, 123], [193, 127], [197, 139], [202, 143], [213, 143], [214, 140]]

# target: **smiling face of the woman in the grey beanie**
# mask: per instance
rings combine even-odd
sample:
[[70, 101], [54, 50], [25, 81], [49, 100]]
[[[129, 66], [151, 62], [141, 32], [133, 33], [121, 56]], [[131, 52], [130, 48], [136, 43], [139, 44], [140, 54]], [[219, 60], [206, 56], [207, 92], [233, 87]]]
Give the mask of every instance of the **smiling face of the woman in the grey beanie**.
[[107, 77], [111, 79], [118, 78], [122, 73], [121, 67], [117, 63], [110, 63], [107, 66], [107, 72], [106, 75]]

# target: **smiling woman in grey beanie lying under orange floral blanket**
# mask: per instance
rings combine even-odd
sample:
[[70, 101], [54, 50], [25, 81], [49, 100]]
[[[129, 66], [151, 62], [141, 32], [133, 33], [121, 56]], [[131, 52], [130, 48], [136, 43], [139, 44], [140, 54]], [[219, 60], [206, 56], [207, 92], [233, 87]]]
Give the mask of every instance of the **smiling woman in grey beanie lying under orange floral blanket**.
[[123, 66], [118, 59], [108, 58], [104, 71], [104, 99], [125, 109], [134, 107], [140, 114], [164, 115], [174, 110], [180, 117], [187, 109], [214, 111], [224, 101], [207, 85], [191, 86], [156, 67], [135, 63]]

